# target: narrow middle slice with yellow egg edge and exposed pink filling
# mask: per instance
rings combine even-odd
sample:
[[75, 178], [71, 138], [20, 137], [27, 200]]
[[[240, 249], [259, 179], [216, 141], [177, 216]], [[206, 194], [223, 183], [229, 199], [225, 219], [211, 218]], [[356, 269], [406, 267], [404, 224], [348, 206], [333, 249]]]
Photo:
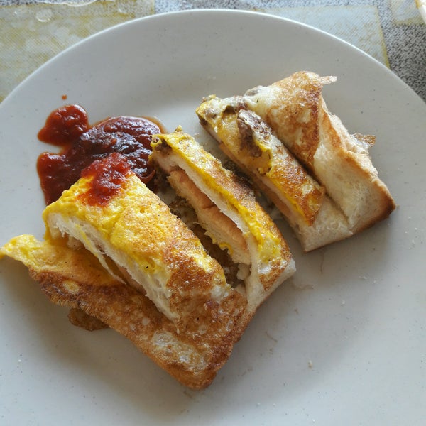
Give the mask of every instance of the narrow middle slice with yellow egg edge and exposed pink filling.
[[[231, 257], [249, 270], [244, 277], [245, 289], [239, 290], [246, 294], [251, 317], [266, 297], [295, 272], [283, 236], [253, 192], [192, 136], [178, 129], [153, 136], [151, 146], [151, 158], [172, 177], [170, 183], [175, 190], [192, 203], [214, 242], [226, 247]], [[225, 231], [217, 232], [222, 226]]]

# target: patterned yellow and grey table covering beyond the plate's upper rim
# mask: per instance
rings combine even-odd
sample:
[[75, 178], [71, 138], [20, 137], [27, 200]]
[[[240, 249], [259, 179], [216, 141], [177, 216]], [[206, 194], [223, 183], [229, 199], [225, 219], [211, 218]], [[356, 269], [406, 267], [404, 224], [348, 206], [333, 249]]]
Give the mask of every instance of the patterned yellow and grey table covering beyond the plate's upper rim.
[[[389, 67], [426, 101], [426, 24], [420, 0], [0, 0], [0, 102], [48, 59], [93, 33], [155, 13], [244, 9], [336, 35]], [[78, 5], [79, 7], [75, 7]], [[18, 54], [17, 54], [18, 53]]]

